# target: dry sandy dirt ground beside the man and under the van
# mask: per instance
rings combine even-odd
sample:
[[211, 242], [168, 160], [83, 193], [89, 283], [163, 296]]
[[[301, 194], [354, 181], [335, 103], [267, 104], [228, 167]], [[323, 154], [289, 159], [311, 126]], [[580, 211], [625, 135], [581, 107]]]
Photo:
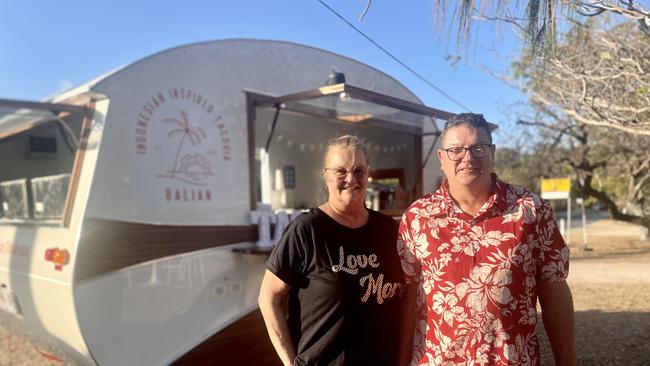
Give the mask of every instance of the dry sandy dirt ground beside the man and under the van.
[[[593, 225], [593, 227], [591, 227]], [[650, 365], [650, 241], [638, 228], [602, 220], [587, 247], [572, 232], [569, 286], [576, 315], [579, 365]], [[541, 327], [542, 365], [553, 365]], [[0, 325], [0, 366], [73, 366]]]

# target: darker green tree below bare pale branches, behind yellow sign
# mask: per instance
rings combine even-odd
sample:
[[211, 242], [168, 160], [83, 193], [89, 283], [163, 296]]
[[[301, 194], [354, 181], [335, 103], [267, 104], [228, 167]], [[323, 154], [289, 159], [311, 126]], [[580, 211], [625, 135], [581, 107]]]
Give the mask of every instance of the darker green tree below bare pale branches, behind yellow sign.
[[577, 193], [603, 203], [614, 219], [648, 224], [650, 138], [549, 116], [538, 109], [532, 120], [519, 121], [535, 127], [544, 141], [533, 154], [537, 174], [573, 176]]

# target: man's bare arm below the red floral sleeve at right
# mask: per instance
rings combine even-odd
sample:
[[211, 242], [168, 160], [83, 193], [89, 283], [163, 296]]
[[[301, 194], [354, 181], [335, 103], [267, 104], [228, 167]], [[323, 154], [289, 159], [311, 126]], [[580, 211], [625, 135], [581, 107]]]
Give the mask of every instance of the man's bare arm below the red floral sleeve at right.
[[537, 294], [542, 307], [544, 328], [551, 341], [557, 366], [576, 364], [573, 297], [566, 281], [538, 282]]

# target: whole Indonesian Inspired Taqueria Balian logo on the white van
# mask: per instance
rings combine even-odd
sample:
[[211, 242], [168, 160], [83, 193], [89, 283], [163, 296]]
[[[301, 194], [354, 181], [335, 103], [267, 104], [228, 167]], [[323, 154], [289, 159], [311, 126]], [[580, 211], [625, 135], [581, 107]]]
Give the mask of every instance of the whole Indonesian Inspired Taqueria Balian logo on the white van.
[[[150, 128], [152, 127], [152, 128]], [[167, 201], [211, 200], [207, 186], [231, 159], [228, 126], [214, 104], [202, 94], [186, 88], [153, 93], [138, 114], [135, 152], [156, 155], [155, 176], [195, 188], [165, 188]]]

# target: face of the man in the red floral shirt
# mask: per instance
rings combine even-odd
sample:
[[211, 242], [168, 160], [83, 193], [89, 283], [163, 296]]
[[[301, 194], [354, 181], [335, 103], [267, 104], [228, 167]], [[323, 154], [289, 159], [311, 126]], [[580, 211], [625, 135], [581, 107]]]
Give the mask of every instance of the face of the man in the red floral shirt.
[[[471, 148], [477, 145], [489, 145], [490, 139], [482, 128], [473, 128], [467, 125], [453, 127], [447, 131], [442, 149], [438, 150], [438, 159], [442, 166], [442, 171], [449, 180], [449, 185], [476, 187], [477, 185], [490, 184], [490, 172], [494, 165], [494, 147], [487, 147], [489, 152], [483, 158], [476, 158], [469, 150], [452, 156], [457, 161], [449, 158], [447, 151], [453, 147]], [[452, 154], [454, 155], [454, 154]]]

